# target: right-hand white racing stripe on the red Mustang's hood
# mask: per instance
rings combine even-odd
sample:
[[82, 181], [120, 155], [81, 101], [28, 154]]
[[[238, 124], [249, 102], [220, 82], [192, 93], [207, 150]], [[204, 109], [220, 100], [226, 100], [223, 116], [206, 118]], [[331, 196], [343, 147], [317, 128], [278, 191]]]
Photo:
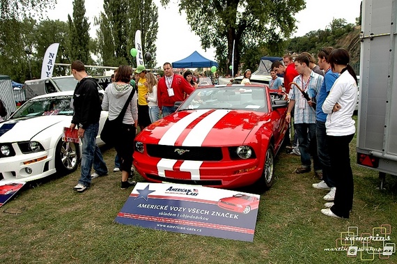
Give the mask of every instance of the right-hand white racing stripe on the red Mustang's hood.
[[226, 116], [230, 110], [219, 109], [208, 116], [205, 116], [203, 120], [195, 125], [191, 132], [187, 135], [186, 139], [182, 142], [182, 146], [201, 146], [205, 137], [212, 130], [221, 118]]

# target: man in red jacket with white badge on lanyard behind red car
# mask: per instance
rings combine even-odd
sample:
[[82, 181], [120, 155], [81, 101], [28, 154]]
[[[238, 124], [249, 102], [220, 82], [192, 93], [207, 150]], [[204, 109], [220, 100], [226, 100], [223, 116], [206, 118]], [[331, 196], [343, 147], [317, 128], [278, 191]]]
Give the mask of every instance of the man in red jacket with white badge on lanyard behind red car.
[[157, 100], [163, 117], [176, 111], [175, 102], [185, 100], [185, 95], [190, 95], [194, 88], [182, 75], [173, 73], [171, 63], [164, 63], [164, 77], [157, 84]]

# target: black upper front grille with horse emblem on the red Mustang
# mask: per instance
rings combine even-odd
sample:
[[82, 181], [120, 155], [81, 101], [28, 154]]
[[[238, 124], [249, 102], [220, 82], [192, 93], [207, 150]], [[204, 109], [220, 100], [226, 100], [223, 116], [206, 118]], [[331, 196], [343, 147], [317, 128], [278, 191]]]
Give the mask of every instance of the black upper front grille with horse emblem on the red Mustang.
[[147, 144], [146, 150], [151, 157], [170, 160], [220, 161], [222, 149], [214, 147], [184, 147]]

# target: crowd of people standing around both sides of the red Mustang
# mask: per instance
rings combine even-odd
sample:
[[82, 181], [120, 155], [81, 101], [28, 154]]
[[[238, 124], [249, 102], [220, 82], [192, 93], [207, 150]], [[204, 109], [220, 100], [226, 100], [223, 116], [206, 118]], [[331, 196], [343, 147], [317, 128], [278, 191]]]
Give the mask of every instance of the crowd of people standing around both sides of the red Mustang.
[[[309, 173], [313, 163], [314, 173], [321, 180], [313, 187], [329, 191], [323, 197], [327, 203], [321, 212], [330, 217], [348, 218], [353, 200], [349, 143], [355, 134], [352, 115], [357, 100], [357, 77], [345, 49], [324, 47], [317, 57], [318, 65], [307, 52], [295, 60], [285, 55], [283, 63], [274, 61], [270, 88], [282, 91], [277, 76], [282, 74], [289, 100], [286, 122], [293, 124], [295, 131], [290, 139], [288, 129], [286, 143], [300, 155], [302, 163], [295, 172]], [[176, 74], [171, 63], [164, 63], [164, 77], [157, 78], [144, 65], [138, 65], [135, 72], [130, 66], [121, 65], [104, 91], [101, 105], [97, 84], [88, 77], [84, 63], [75, 61], [71, 69], [79, 82], [73, 95], [75, 114], [70, 127], [78, 128], [83, 144], [81, 177], [74, 189], [84, 192], [93, 178], [108, 174], [95, 144], [102, 109], [109, 111], [110, 121], [123, 115], [122, 131], [114, 143], [117, 153], [114, 171], [121, 171], [122, 189], [134, 185], [128, 178], [133, 174], [133, 141], [138, 125], [143, 130], [176, 111], [175, 102], [185, 100], [197, 88], [193, 73], [187, 70], [183, 75]], [[245, 70], [242, 84], [250, 84], [250, 76], [251, 70]]]

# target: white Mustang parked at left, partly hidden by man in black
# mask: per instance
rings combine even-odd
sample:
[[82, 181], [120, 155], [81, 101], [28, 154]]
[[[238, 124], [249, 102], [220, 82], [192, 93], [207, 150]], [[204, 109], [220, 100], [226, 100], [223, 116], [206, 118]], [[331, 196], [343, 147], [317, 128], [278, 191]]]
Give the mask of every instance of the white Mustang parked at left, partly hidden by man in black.
[[[72, 95], [73, 91], [65, 91], [37, 96], [0, 123], [1, 183], [65, 175], [77, 169], [81, 141], [62, 141], [63, 127], [72, 121]], [[100, 131], [106, 118], [107, 111], [102, 111]], [[99, 134], [97, 143], [104, 145]]]

